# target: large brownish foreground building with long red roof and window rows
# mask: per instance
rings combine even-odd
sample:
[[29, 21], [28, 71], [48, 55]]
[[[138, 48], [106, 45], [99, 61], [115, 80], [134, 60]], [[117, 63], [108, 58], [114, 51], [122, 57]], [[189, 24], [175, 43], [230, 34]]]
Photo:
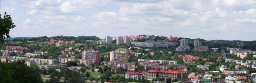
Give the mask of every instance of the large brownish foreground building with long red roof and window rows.
[[158, 80], [161, 78], [166, 79], [171, 78], [171, 81], [174, 79], [187, 79], [186, 72], [180, 70], [167, 70], [167, 69], [154, 69], [146, 71], [146, 80], [152, 82], [152, 79], [157, 78]]

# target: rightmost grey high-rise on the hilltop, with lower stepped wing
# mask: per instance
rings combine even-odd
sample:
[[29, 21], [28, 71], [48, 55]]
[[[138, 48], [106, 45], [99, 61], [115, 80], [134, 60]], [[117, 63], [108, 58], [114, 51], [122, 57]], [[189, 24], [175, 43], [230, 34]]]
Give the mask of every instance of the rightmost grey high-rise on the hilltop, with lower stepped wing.
[[194, 52], [207, 52], [208, 46], [202, 46], [199, 40], [194, 40]]

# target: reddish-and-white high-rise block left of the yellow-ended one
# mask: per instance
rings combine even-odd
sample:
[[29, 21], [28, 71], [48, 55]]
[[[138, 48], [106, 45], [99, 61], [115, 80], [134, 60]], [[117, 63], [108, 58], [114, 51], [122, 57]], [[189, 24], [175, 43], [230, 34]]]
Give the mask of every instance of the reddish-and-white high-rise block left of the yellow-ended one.
[[85, 50], [82, 52], [83, 60], [91, 60], [92, 63], [98, 64], [100, 61], [100, 51], [95, 50]]

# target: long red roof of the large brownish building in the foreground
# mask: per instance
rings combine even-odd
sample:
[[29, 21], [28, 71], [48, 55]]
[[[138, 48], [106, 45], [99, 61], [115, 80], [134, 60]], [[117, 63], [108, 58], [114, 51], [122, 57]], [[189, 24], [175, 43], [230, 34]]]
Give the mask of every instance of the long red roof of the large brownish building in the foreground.
[[186, 74], [186, 72], [183, 72], [183, 71], [180, 71], [180, 70], [167, 70], [167, 69], [154, 69], [154, 70], [148, 70], [147, 72], [169, 73], [169, 74]]

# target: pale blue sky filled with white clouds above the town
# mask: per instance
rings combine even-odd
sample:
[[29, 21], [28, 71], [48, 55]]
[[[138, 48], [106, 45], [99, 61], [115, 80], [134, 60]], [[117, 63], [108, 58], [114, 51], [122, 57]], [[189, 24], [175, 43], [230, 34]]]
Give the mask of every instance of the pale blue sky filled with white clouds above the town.
[[255, 0], [0, 0], [21, 36], [256, 40]]

